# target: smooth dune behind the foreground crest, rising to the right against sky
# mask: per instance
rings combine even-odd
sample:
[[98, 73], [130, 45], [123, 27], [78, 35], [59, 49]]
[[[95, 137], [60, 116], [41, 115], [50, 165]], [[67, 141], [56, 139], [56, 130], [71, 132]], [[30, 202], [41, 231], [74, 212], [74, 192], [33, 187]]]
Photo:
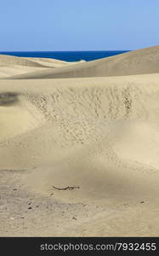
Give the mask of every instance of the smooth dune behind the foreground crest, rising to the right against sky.
[[43, 72], [27, 73], [12, 79], [61, 79], [122, 76], [159, 72], [159, 46], [138, 49], [76, 66], [48, 69]]

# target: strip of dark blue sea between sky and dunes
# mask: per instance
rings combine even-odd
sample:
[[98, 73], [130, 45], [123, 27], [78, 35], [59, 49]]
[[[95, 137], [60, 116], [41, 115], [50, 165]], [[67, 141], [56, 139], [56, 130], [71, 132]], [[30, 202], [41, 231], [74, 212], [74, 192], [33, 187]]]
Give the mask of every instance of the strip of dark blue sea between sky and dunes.
[[20, 57], [53, 58], [61, 61], [93, 61], [100, 58], [119, 55], [128, 50], [97, 50], [97, 51], [13, 51], [0, 52], [3, 55], [14, 55]]

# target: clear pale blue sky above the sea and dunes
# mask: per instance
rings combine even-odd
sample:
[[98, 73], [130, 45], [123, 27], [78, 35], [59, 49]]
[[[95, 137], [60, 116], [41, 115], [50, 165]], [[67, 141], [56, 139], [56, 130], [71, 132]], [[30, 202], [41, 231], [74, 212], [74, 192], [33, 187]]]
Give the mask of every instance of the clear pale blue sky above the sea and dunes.
[[0, 51], [159, 44], [159, 0], [0, 0]]

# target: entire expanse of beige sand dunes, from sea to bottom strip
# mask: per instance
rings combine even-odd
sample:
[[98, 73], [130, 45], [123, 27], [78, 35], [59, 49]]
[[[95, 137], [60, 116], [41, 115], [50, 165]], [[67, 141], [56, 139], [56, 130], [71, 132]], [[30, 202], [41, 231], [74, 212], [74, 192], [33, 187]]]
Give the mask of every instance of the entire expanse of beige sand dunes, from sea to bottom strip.
[[158, 236], [159, 46], [3, 70], [0, 236]]

